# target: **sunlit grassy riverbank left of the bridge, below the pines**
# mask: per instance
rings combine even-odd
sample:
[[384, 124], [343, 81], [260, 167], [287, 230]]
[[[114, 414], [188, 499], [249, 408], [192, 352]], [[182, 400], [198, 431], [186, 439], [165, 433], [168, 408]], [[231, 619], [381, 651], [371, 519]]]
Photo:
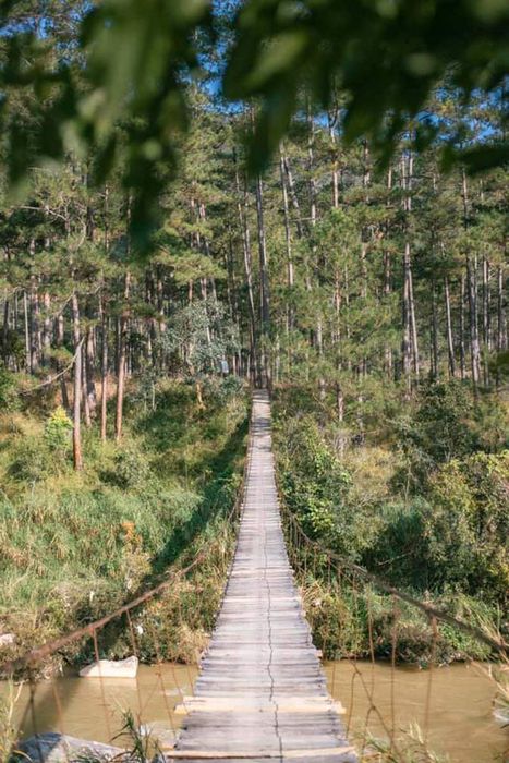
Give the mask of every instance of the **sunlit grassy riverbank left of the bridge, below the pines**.
[[[193, 662], [206, 644], [232, 543], [225, 518], [241, 481], [246, 397], [205, 388], [203, 408], [192, 386], [161, 382], [148, 407], [130, 392], [121, 445], [90, 427], [81, 474], [69, 439], [59, 452], [51, 446], [54, 410], [0, 420], [0, 633], [10, 637], [0, 662], [113, 610], [205, 541], [204, 565], [157, 607], [168, 620], [158, 630], [163, 658]], [[155, 658], [148, 628], [138, 646], [142, 659]], [[108, 630], [104, 651], [132, 651], [125, 623]], [[81, 664], [89, 652], [76, 645], [57, 663]]]

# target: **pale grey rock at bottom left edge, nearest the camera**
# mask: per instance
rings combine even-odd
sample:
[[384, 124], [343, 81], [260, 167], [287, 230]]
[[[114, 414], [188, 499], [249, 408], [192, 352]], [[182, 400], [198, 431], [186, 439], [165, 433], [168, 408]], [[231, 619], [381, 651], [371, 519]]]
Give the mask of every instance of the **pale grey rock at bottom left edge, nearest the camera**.
[[24, 763], [73, 763], [73, 761], [120, 760], [125, 751], [101, 742], [89, 742], [62, 734], [38, 734], [15, 747], [13, 760]]

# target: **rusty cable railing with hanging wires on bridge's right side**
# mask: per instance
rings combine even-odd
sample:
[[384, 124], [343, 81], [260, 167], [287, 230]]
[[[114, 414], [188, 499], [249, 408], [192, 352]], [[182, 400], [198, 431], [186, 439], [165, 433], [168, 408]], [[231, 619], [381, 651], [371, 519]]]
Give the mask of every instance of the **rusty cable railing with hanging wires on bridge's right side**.
[[[289, 559], [301, 590], [303, 607], [312, 627], [314, 626], [315, 643], [322, 647], [324, 657], [330, 656], [332, 659], [329, 676], [332, 697], [336, 695], [337, 689], [338, 655], [351, 668], [350, 686], [344, 686], [343, 676], [340, 693], [348, 705], [347, 734], [356, 742], [360, 759], [384, 761], [384, 763], [400, 763], [410, 759], [429, 762], [437, 760], [429, 750], [428, 736], [440, 623], [476, 640], [487, 647], [485, 654], [498, 655], [498, 658], [507, 665], [509, 665], [509, 645], [498, 633], [489, 632], [428, 602], [416, 598], [383, 577], [311, 538], [286, 505], [281, 491], [279, 493]], [[383, 707], [377, 702], [378, 674], [375, 670], [375, 661], [379, 656], [377, 647], [380, 646], [379, 634], [375, 627], [376, 617], [379, 614], [376, 611], [379, 609], [379, 602], [375, 595], [377, 592], [381, 592], [387, 600], [384, 604], [384, 617], [388, 621], [389, 629], [389, 643], [383, 644], [384, 656], [390, 662], [389, 700], [387, 703], [387, 698], [384, 697]], [[399, 728], [396, 702], [396, 668], [400, 640], [404, 637], [404, 626], [401, 622], [401, 610], [404, 607], [414, 609], [424, 618], [423, 631], [425, 622], [428, 623], [426, 690], [420, 717], [415, 718], [415, 724], [408, 729]], [[320, 615], [317, 615], [317, 611]], [[360, 693], [364, 697], [364, 713], [355, 706], [355, 703], [359, 704]], [[361, 715], [364, 716], [362, 722]], [[353, 723], [354, 717], [355, 723]], [[372, 723], [373, 720], [375, 723]], [[376, 734], [372, 730], [373, 728], [376, 729]], [[379, 756], [375, 756], [376, 754]], [[411, 758], [412, 754], [415, 758]]]

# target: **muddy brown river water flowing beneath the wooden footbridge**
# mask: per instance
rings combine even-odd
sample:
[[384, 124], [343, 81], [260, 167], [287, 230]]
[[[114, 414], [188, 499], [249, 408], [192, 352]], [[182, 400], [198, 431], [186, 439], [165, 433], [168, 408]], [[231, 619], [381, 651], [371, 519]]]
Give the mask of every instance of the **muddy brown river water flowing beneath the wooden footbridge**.
[[[509, 734], [499, 728], [492, 715], [495, 693], [493, 682], [475, 666], [452, 665], [432, 671], [410, 667], [391, 670], [389, 665], [348, 662], [326, 663], [329, 691], [341, 701], [344, 723], [351, 735], [363, 738], [366, 714], [369, 732], [383, 738], [392, 726], [397, 736], [419, 724], [426, 728], [426, 699], [429, 692], [427, 719], [429, 748], [449, 755], [451, 763], [488, 763], [509, 761], [505, 758]], [[185, 704], [192, 693], [196, 669], [165, 664], [141, 666], [136, 680], [99, 679], [65, 676], [54, 682], [38, 685], [31, 712], [26, 687], [15, 705], [14, 719], [22, 736], [34, 730], [33, 715], [39, 731], [63, 731], [83, 739], [108, 741], [122, 726], [122, 713], [130, 708], [145, 729], [162, 744], [171, 744], [173, 730], [182, 714], [173, 712]], [[373, 688], [373, 703], [369, 699]], [[3, 685], [1, 693], [7, 692]], [[393, 697], [393, 702], [392, 698]], [[385, 729], [384, 729], [385, 727]], [[122, 747], [128, 743], [119, 739]]]

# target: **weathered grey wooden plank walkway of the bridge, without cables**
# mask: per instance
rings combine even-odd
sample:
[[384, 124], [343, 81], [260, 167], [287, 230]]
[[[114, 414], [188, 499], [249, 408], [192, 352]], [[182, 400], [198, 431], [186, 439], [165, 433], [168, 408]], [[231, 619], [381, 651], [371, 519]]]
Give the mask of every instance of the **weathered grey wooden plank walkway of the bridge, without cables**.
[[354, 763], [288, 561], [265, 391], [255, 392], [252, 415], [244, 510], [222, 608], [166, 758]]

